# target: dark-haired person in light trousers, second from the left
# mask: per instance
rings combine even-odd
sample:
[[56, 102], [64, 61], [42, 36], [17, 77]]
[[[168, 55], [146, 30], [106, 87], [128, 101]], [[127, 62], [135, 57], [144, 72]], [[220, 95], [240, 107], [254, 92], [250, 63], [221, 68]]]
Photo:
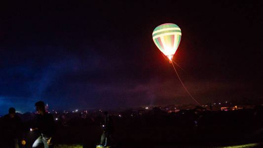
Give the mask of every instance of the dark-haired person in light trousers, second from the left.
[[44, 145], [44, 148], [53, 148], [52, 136], [55, 133], [56, 125], [52, 114], [49, 114], [45, 111], [45, 104], [42, 101], [38, 101], [36, 104], [36, 110], [38, 111], [36, 128], [32, 129], [38, 130], [40, 136], [34, 142], [32, 148], [37, 148], [41, 144]]

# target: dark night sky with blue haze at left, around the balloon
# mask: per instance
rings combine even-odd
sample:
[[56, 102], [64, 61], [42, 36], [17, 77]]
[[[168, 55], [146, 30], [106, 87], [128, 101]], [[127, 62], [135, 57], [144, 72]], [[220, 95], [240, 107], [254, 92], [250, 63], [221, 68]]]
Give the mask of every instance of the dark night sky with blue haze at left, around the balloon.
[[182, 30], [173, 60], [198, 102], [263, 99], [261, 0], [2, 0], [0, 114], [194, 104], [152, 41], [163, 23]]

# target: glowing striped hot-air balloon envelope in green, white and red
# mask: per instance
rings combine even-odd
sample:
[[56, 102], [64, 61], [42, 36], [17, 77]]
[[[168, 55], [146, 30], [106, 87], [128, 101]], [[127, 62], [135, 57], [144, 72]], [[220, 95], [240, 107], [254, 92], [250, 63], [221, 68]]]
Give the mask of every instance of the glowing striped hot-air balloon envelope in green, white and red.
[[155, 45], [172, 60], [181, 40], [181, 29], [172, 23], [157, 26], [152, 33]]

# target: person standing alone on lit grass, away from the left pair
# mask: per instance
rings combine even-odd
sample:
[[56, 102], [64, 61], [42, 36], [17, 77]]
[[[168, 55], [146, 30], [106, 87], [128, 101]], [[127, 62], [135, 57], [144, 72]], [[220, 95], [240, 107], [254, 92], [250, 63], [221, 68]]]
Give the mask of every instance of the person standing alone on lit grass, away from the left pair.
[[[109, 138], [112, 139], [112, 132], [113, 132], [113, 123], [112, 123], [112, 117], [108, 115], [108, 111], [104, 112], [104, 124], [103, 124], [103, 133], [101, 135], [101, 142], [98, 147], [107, 147], [107, 140]], [[103, 142], [105, 141], [105, 144], [103, 146]]]

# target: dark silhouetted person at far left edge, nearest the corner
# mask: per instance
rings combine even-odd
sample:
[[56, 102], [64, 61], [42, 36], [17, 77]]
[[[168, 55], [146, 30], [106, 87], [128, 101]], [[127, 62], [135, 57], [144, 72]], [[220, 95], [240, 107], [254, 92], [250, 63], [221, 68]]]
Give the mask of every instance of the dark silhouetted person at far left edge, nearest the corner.
[[4, 115], [1, 120], [3, 136], [3, 148], [19, 148], [19, 141], [24, 141], [24, 128], [21, 118], [15, 114], [15, 109], [10, 108], [8, 114]]

